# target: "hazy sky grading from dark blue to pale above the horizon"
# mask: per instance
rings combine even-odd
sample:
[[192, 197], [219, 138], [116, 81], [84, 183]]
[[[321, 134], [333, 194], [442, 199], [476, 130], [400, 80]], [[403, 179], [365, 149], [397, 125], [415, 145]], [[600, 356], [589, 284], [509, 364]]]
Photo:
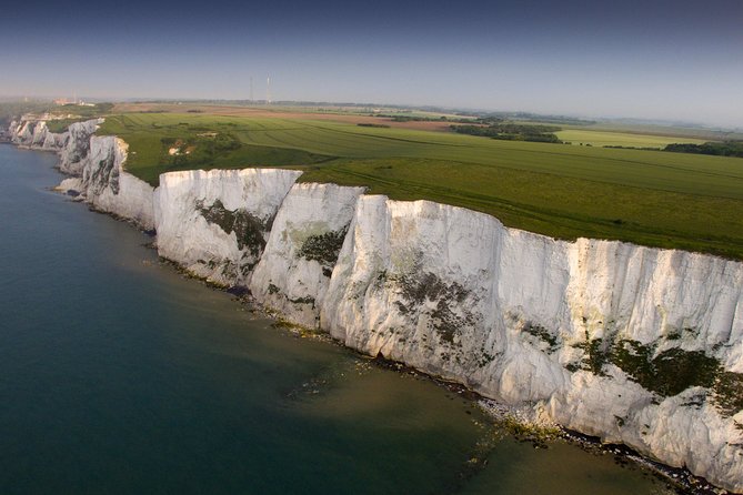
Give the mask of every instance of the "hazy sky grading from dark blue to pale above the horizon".
[[0, 95], [271, 98], [743, 128], [743, 0], [37, 0]]

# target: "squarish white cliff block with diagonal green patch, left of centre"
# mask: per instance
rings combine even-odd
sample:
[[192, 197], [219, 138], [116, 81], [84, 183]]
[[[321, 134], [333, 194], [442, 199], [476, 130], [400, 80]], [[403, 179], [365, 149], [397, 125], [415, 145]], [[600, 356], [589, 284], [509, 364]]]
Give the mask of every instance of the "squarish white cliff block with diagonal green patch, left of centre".
[[158, 252], [211, 282], [247, 286], [277, 210], [299, 175], [270, 169], [160, 175]]

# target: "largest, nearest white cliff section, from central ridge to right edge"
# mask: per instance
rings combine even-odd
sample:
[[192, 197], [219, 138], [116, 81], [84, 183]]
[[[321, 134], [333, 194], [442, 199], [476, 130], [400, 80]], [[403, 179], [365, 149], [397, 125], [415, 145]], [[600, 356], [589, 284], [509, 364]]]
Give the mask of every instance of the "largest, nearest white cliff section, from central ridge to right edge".
[[362, 196], [321, 325], [741, 491], [742, 287], [732, 261]]

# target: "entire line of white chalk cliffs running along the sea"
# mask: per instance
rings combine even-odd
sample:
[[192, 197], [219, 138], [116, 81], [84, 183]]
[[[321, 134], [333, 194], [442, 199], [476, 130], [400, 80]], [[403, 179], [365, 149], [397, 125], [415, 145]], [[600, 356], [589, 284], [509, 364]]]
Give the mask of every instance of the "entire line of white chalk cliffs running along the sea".
[[153, 226], [164, 257], [350, 347], [743, 492], [743, 263], [556, 241], [285, 170], [172, 172], [153, 191], [125, 172], [125, 143], [86, 125], [9, 133], [78, 163], [63, 170], [87, 201]]

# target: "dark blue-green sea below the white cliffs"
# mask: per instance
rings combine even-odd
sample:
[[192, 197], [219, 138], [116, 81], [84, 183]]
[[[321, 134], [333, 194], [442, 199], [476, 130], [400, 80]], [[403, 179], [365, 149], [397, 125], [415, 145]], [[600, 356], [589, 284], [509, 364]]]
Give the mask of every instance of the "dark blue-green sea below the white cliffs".
[[[650, 494], [432, 381], [302, 339], [0, 145], [0, 494]], [[470, 459], [490, 438], [482, 468]]]

